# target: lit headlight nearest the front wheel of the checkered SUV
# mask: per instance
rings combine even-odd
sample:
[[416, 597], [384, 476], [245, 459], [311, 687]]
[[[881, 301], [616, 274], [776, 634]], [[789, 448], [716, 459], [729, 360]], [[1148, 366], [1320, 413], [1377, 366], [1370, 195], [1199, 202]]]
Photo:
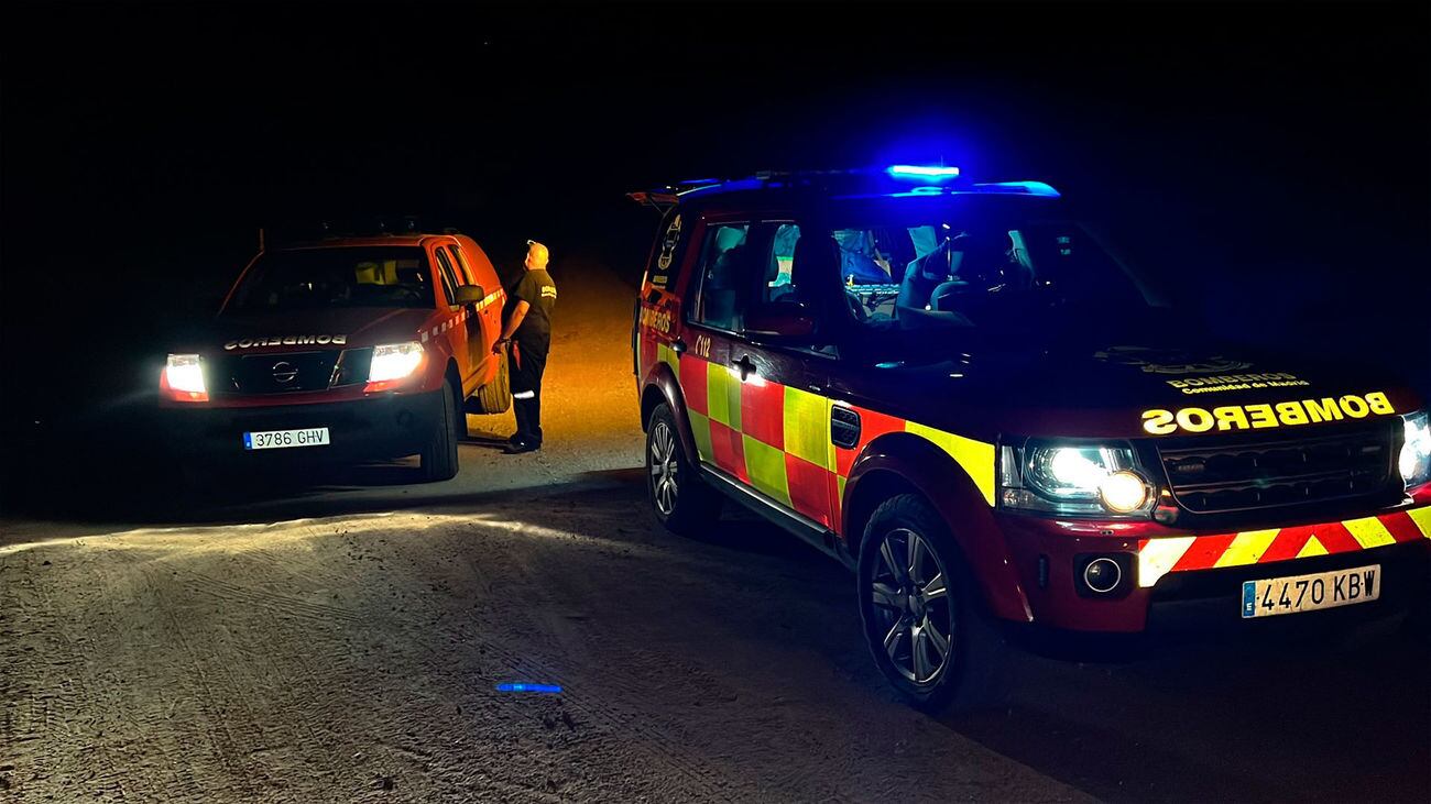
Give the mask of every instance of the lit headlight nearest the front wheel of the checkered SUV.
[[999, 492], [1005, 508], [1047, 514], [1146, 518], [1153, 502], [1152, 485], [1126, 443], [1003, 445]]

